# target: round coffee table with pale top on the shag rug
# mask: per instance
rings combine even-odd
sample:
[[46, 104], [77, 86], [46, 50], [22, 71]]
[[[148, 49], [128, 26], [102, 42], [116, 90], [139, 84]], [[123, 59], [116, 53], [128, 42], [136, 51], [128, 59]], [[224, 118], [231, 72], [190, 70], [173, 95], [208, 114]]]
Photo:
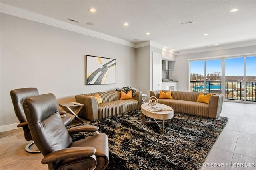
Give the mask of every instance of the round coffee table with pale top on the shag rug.
[[[147, 108], [149, 107], [161, 107], [161, 108], [167, 108], [170, 109], [170, 111], [150, 111]], [[164, 104], [156, 104], [156, 105], [148, 105], [148, 103], [144, 103], [141, 105], [141, 121], [142, 124], [145, 123], [156, 123], [158, 125], [158, 127], [160, 128], [160, 130], [162, 131], [162, 134], [164, 133], [164, 121], [166, 120], [167, 123], [170, 123], [170, 119], [172, 119], [173, 117], [173, 109], [170, 106], [164, 105]], [[154, 119], [154, 121], [145, 121], [145, 116], [150, 117], [152, 119]], [[156, 121], [156, 119], [158, 120], [162, 120], [162, 122]], [[162, 128], [160, 127], [160, 125], [158, 123], [162, 123]]]

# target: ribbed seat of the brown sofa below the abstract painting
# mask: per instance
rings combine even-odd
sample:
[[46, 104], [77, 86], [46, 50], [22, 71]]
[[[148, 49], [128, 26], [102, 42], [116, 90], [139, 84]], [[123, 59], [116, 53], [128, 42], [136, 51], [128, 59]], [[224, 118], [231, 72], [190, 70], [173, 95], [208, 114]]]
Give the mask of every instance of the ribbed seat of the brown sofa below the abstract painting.
[[99, 118], [139, 109], [138, 100], [125, 99], [98, 104]]

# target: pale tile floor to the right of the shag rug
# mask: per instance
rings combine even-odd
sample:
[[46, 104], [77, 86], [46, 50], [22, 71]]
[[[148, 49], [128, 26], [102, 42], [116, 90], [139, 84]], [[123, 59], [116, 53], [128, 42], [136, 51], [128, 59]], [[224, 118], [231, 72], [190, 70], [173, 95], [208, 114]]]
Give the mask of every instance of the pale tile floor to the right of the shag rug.
[[256, 105], [224, 102], [228, 123], [201, 170], [256, 170]]

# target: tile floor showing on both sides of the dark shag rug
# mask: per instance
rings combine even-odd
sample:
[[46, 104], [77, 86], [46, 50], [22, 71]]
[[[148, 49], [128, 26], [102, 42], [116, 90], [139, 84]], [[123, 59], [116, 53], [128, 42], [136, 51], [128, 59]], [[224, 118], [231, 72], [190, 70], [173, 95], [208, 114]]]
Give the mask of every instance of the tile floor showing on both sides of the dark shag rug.
[[[256, 170], [256, 105], [224, 102], [221, 116], [228, 123], [202, 170]], [[1, 170], [47, 170], [42, 154], [29, 154], [22, 128], [0, 133]]]

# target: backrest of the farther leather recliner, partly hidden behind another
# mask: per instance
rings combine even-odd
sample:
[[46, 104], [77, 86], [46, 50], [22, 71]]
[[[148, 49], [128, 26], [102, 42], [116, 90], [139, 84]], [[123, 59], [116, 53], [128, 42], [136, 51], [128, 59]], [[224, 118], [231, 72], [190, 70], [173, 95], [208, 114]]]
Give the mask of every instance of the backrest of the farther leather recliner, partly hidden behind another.
[[37, 88], [30, 87], [30, 88], [14, 89], [14, 90], [11, 90], [10, 95], [12, 99], [12, 104], [14, 106], [15, 114], [19, 119], [20, 123], [27, 121], [23, 107], [22, 107], [22, 103], [28, 97], [39, 95]]

